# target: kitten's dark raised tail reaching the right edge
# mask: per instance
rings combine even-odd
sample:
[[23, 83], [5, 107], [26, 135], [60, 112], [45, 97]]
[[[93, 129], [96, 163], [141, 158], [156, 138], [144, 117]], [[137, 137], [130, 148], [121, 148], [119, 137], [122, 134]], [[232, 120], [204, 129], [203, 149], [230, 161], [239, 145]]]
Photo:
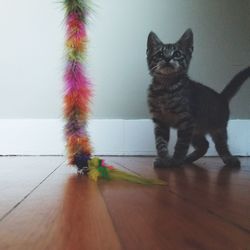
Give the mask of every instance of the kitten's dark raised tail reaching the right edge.
[[243, 69], [227, 84], [221, 95], [228, 101], [238, 92], [242, 84], [250, 77], [250, 67]]

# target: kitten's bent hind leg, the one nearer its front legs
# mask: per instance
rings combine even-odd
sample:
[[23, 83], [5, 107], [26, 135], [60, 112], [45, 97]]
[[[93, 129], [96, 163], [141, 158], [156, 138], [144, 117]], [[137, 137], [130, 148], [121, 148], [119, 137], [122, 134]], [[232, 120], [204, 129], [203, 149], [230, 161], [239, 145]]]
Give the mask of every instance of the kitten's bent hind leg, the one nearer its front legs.
[[193, 135], [191, 144], [195, 150], [191, 154], [187, 155], [184, 161], [185, 163], [192, 163], [201, 158], [206, 154], [209, 146], [209, 143], [203, 134]]

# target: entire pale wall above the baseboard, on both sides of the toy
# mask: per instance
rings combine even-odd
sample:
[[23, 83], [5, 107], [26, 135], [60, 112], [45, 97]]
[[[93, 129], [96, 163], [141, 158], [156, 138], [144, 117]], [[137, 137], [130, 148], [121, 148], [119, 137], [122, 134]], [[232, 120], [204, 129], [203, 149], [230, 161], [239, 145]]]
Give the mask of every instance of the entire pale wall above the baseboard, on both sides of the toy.
[[[61, 117], [63, 9], [60, 1], [0, 0], [0, 118]], [[195, 36], [191, 76], [221, 90], [249, 64], [249, 0], [93, 0], [89, 74], [95, 118], [148, 117], [146, 38]], [[248, 86], [247, 86], [248, 85]], [[232, 103], [250, 117], [250, 81]]]

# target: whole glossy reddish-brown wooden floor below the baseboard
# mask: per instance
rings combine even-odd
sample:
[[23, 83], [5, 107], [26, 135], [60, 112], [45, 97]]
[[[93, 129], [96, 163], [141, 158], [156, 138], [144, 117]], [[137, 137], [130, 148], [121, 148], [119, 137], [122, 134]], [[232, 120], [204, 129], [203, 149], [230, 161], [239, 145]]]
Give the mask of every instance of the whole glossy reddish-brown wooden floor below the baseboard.
[[250, 250], [250, 158], [155, 170], [151, 157], [106, 157], [167, 186], [95, 184], [62, 157], [0, 157], [0, 250]]

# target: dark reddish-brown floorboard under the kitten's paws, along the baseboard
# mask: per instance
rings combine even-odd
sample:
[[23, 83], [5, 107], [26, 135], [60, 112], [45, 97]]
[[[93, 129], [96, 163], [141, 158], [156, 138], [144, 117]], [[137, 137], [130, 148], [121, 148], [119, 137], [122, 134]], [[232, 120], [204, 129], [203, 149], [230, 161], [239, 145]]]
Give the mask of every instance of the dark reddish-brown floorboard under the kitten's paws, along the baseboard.
[[[203, 159], [200, 166], [155, 170], [153, 158], [121, 159], [128, 169], [168, 181], [171, 192], [196, 206], [224, 218], [250, 232], [250, 172], [248, 159], [243, 159], [243, 170], [220, 166], [220, 159]], [[205, 162], [204, 162], [205, 161]], [[210, 163], [211, 161], [211, 163]], [[204, 164], [206, 163], [206, 164]], [[134, 165], [136, 167], [134, 167]], [[213, 166], [213, 168], [209, 168]], [[206, 198], [204, 198], [206, 197]]]

